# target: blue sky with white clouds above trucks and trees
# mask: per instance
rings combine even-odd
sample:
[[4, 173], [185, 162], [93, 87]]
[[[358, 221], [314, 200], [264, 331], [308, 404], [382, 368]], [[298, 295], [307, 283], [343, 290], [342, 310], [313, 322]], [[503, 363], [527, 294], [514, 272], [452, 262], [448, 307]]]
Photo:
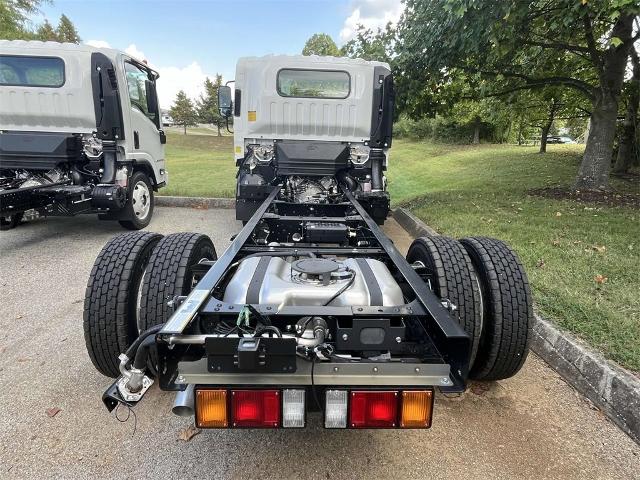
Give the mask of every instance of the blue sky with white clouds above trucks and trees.
[[83, 43], [147, 60], [169, 108], [181, 89], [197, 98], [207, 76], [232, 80], [239, 57], [299, 54], [314, 33], [341, 46], [358, 24], [395, 23], [402, 9], [401, 0], [53, 0], [33, 22], [55, 25], [64, 13]]

